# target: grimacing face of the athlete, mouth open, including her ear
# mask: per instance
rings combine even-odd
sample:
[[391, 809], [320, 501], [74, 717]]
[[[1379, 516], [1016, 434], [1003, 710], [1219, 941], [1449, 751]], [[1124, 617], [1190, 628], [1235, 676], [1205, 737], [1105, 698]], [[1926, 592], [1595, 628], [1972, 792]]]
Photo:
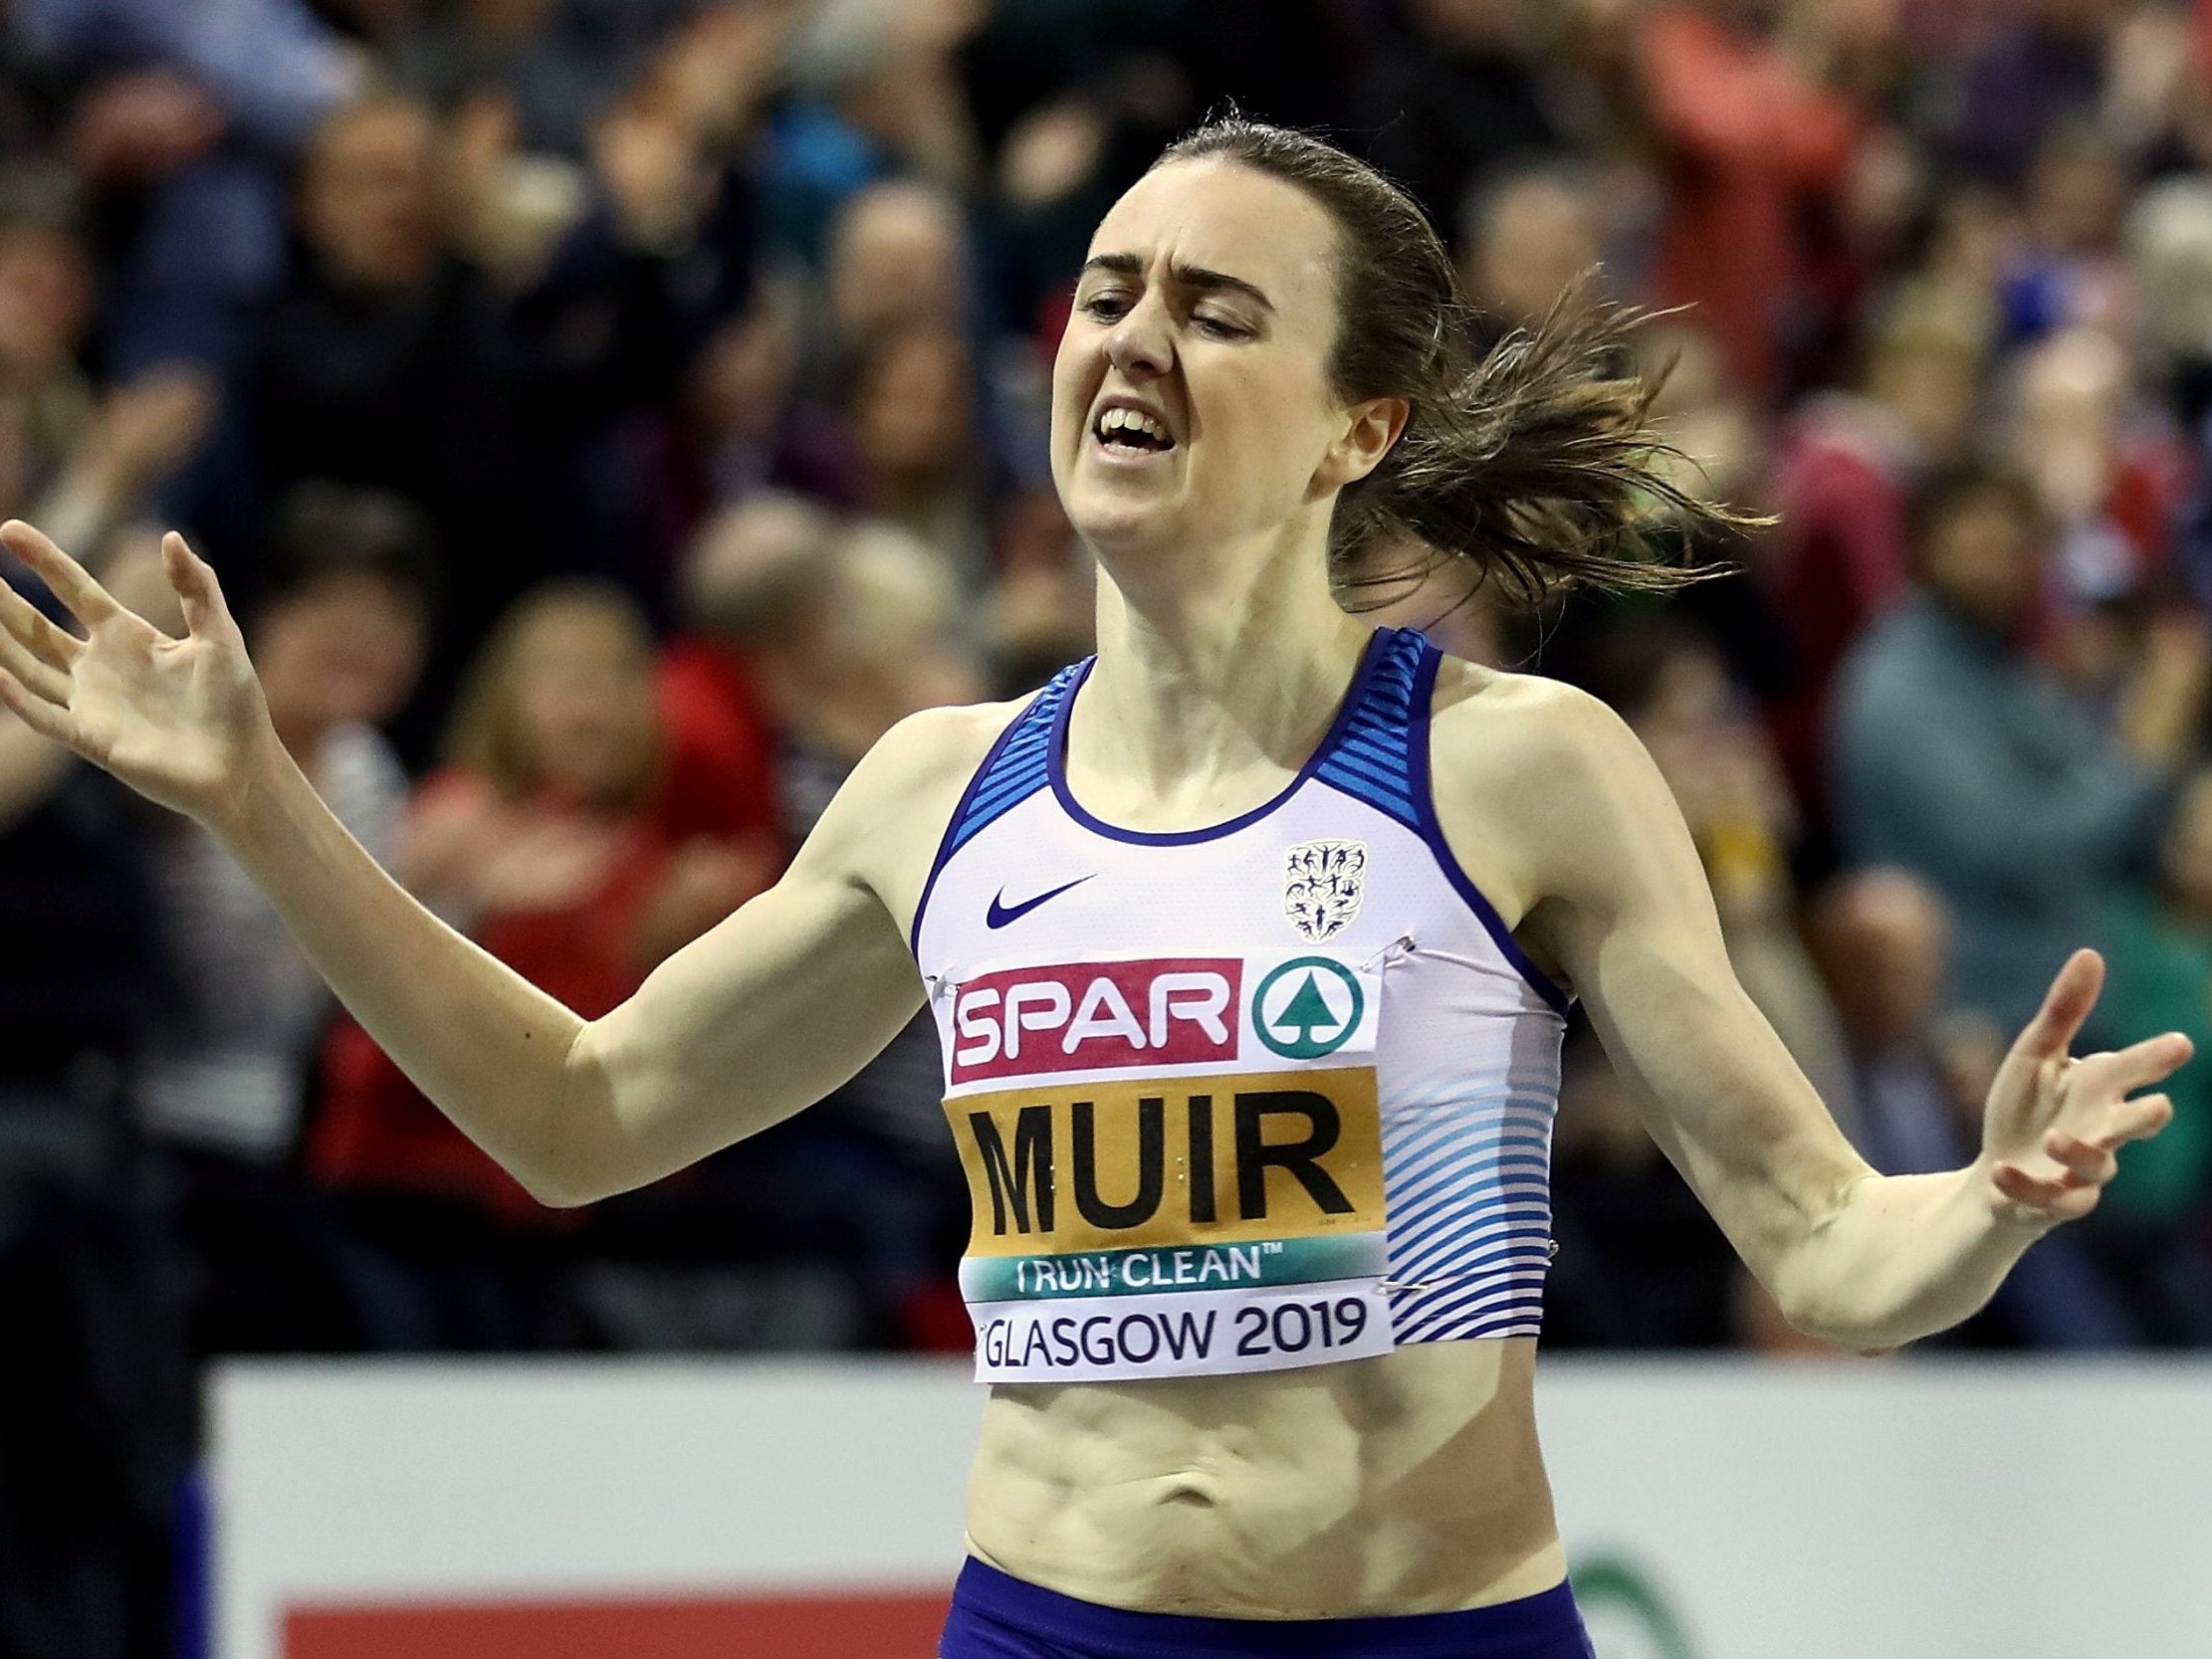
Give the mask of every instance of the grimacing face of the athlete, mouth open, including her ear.
[[[1075, 531], [1128, 560], [1325, 518], [1374, 465], [1338, 465], [1360, 422], [1329, 389], [1334, 341], [1321, 206], [1234, 161], [1148, 173], [1091, 239], [1053, 363], [1053, 482]], [[1144, 431], [1104, 425], [1133, 414]]]

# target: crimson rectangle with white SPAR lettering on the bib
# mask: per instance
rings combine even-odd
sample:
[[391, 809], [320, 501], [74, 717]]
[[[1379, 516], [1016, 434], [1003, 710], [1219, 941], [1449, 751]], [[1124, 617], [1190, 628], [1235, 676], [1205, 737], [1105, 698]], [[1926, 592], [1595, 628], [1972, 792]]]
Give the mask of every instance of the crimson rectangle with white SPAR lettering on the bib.
[[1241, 1004], [1234, 956], [980, 973], [953, 998], [953, 1084], [1237, 1060]]

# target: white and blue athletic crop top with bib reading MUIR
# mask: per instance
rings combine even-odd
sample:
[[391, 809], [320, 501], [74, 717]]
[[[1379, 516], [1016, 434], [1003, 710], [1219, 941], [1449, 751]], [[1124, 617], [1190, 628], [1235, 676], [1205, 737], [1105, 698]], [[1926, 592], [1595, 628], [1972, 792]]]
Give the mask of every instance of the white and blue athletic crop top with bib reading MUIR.
[[978, 768], [914, 920], [978, 1380], [1537, 1332], [1568, 1000], [1444, 847], [1438, 661], [1374, 635], [1305, 770], [1210, 830], [1068, 792], [1088, 661]]

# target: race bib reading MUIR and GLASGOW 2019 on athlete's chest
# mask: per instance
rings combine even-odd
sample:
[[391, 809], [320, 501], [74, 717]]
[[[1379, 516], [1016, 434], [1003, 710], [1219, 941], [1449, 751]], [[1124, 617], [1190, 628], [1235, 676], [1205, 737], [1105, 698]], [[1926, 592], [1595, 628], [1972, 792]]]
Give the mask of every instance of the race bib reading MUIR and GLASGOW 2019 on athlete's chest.
[[978, 1380], [1387, 1354], [1380, 987], [1325, 951], [962, 982], [945, 1108]]

